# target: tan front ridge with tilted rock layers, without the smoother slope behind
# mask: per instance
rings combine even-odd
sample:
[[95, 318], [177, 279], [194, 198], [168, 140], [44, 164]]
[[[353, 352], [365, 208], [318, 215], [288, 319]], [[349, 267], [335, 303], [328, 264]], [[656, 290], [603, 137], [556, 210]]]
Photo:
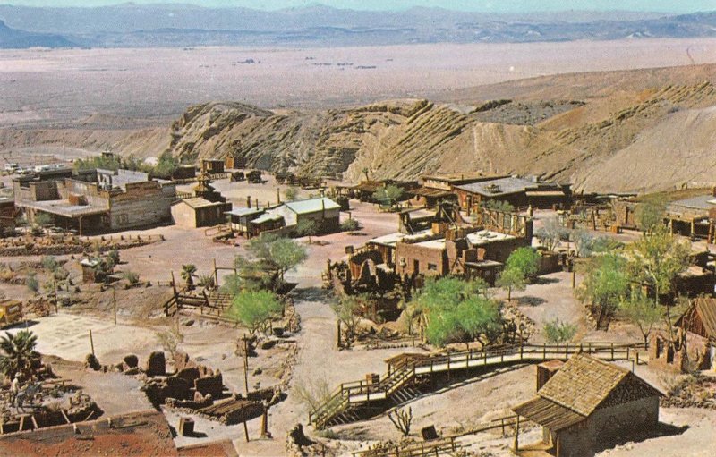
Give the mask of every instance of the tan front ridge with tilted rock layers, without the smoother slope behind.
[[619, 90], [579, 103], [494, 105], [398, 100], [274, 114], [209, 104], [175, 123], [171, 148], [192, 157], [235, 152], [273, 170], [345, 172], [351, 181], [365, 168], [376, 178], [484, 170], [536, 173], [585, 190], [668, 189], [708, 181], [716, 167], [709, 163], [716, 105], [710, 81]]

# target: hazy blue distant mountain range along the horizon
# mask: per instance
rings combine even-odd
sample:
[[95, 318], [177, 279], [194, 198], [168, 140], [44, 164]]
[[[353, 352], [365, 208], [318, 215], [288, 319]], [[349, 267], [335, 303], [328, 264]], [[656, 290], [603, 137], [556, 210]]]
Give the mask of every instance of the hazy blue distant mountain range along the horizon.
[[364, 46], [716, 37], [716, 12], [527, 15], [413, 8], [278, 11], [196, 5], [97, 8], [0, 5], [0, 47]]

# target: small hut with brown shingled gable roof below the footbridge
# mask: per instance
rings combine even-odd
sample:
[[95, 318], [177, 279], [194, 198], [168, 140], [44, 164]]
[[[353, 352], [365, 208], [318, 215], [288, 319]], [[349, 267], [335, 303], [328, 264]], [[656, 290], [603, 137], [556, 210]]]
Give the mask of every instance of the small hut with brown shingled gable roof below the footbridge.
[[[585, 457], [633, 441], [657, 427], [660, 396], [628, 369], [576, 354], [533, 400], [512, 409], [518, 417], [514, 452]], [[541, 442], [520, 445], [519, 418], [542, 427]]]

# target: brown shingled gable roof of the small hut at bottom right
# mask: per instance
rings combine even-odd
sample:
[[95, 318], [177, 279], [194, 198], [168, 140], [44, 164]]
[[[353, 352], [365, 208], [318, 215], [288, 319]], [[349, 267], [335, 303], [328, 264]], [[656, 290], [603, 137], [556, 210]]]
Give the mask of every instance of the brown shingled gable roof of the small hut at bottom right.
[[512, 410], [543, 427], [559, 430], [587, 419], [622, 385], [635, 393], [624, 398], [661, 395], [628, 369], [580, 353], [567, 360], [536, 398]]

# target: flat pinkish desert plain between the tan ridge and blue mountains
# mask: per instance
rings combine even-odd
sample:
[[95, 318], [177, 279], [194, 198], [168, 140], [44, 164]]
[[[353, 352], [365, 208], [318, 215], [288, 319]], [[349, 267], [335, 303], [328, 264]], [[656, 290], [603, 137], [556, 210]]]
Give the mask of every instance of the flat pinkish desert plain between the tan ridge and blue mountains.
[[[7, 88], [0, 98], [0, 125], [67, 122], [93, 113], [156, 118], [166, 125], [166, 116], [211, 100], [263, 107], [358, 105], [545, 74], [711, 63], [713, 43], [691, 38], [191, 51], [8, 49], [0, 51], [0, 84]], [[236, 64], [249, 58], [259, 63]], [[345, 62], [354, 67], [336, 65]]]

